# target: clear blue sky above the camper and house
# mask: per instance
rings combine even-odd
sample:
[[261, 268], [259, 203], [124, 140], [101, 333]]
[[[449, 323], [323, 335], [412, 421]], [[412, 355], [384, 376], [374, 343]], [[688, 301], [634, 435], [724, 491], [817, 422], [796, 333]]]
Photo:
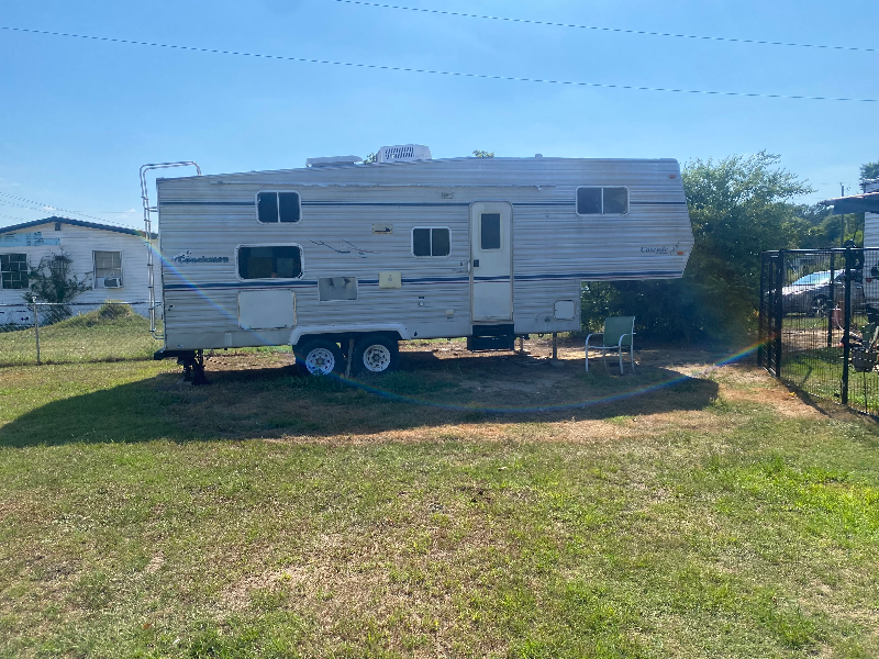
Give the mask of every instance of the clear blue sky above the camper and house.
[[[582, 25], [878, 47], [879, 2], [389, 0]], [[879, 98], [879, 53], [748, 45], [336, 0], [0, 2], [0, 25], [269, 55], [646, 87]], [[298, 64], [0, 30], [0, 226], [43, 205], [140, 226], [137, 169], [434, 157], [721, 158], [761, 149], [816, 192], [879, 159], [879, 103], [710, 97]], [[37, 205], [12, 199], [38, 202]], [[11, 205], [20, 204], [20, 205]], [[22, 208], [33, 206], [33, 208]], [[66, 214], [57, 212], [57, 214]], [[71, 215], [82, 217], [81, 215]]]

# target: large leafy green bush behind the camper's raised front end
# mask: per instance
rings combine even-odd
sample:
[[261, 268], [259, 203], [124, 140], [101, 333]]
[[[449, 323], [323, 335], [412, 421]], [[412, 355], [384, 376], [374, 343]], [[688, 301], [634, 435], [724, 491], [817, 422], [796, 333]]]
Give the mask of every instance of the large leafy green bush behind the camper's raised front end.
[[664, 340], [734, 340], [753, 328], [760, 253], [798, 244], [803, 223], [791, 200], [812, 191], [778, 163], [766, 152], [688, 163], [682, 179], [696, 244], [683, 278], [590, 283], [583, 325], [635, 315], [638, 333]]

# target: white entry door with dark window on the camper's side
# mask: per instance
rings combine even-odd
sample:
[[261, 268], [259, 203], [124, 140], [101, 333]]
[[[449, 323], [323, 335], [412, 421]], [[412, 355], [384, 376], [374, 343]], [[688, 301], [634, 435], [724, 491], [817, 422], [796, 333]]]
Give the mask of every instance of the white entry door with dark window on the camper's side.
[[513, 319], [513, 209], [505, 201], [470, 205], [474, 322]]

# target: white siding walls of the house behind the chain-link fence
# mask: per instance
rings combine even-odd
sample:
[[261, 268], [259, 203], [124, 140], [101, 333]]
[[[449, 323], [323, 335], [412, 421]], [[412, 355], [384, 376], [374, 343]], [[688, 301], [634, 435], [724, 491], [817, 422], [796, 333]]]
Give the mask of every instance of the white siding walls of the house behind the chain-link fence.
[[[56, 231], [56, 226], [58, 231]], [[40, 236], [34, 234], [42, 234], [43, 244], [40, 244]], [[156, 245], [156, 242], [153, 241], [153, 244]], [[98, 306], [107, 300], [140, 302], [142, 304], [137, 304], [134, 309], [140, 313], [147, 313], [146, 303], [149, 294], [146, 246], [141, 236], [64, 222], [56, 224], [55, 220], [47, 220], [44, 224], [29, 225], [12, 232], [0, 228], [0, 254], [26, 254], [29, 267], [37, 266], [45, 256], [62, 252], [73, 260], [71, 272], [91, 287], [77, 295], [74, 300], [75, 303]], [[94, 288], [94, 252], [122, 253], [122, 288]], [[20, 323], [25, 317], [27, 319], [25, 322], [30, 322], [30, 314], [23, 315], [22, 313], [24, 308], [7, 306], [23, 304], [22, 295], [25, 292], [21, 289], [0, 288], [0, 305], [2, 305], [0, 306], [0, 324]], [[156, 287], [156, 295], [160, 295], [159, 287]], [[79, 310], [88, 311], [89, 308], [78, 308]]]

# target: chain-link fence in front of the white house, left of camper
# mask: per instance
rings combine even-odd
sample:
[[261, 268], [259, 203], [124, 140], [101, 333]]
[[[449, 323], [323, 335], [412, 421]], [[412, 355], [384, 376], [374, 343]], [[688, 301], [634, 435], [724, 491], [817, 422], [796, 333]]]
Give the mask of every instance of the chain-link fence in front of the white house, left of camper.
[[149, 359], [146, 302], [0, 304], [0, 367]]

